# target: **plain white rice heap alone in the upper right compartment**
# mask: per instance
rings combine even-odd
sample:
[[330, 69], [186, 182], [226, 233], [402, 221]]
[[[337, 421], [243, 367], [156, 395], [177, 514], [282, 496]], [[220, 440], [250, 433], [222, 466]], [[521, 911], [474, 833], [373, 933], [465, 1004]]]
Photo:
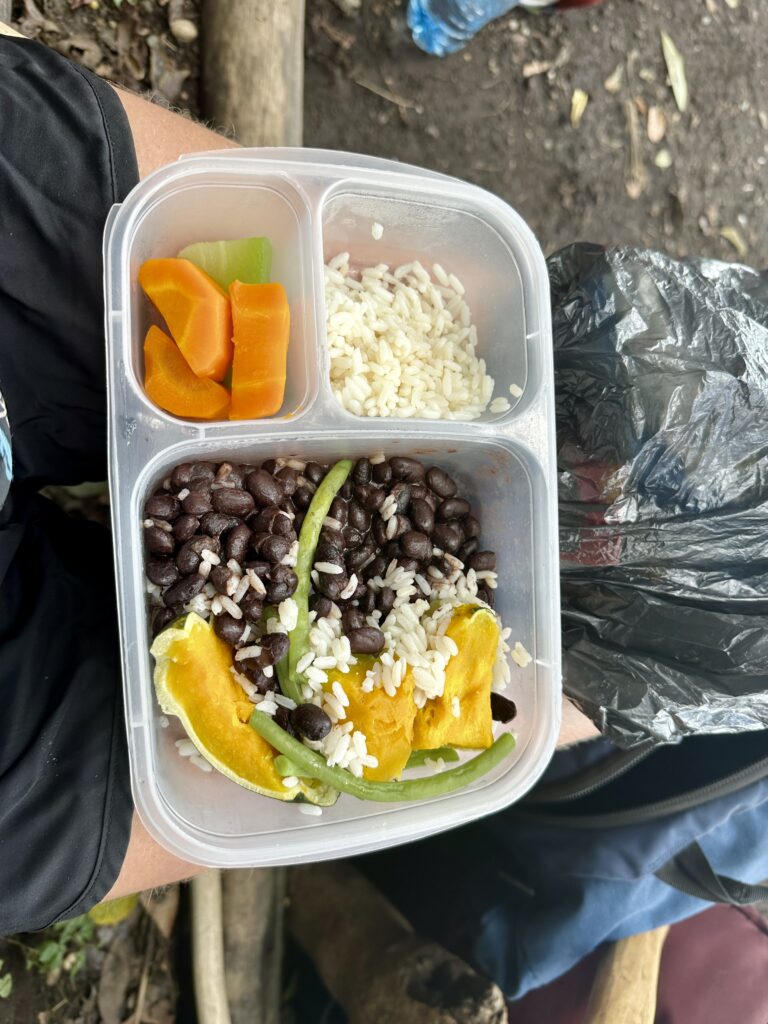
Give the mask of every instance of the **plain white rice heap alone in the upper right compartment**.
[[421, 263], [359, 274], [341, 253], [326, 267], [331, 385], [355, 416], [474, 420], [494, 380], [478, 358], [464, 287], [442, 267], [433, 283]]

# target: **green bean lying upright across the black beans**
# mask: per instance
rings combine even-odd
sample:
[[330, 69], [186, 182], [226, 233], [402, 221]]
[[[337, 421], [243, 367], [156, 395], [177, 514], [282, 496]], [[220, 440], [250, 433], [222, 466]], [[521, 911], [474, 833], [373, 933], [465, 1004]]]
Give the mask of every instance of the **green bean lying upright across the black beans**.
[[285, 683], [281, 680], [283, 692], [296, 703], [302, 703], [304, 699], [301, 693], [301, 675], [296, 671], [296, 666], [309, 650], [309, 585], [311, 583], [309, 573], [314, 564], [314, 552], [317, 550], [317, 541], [328, 510], [331, 508], [334, 498], [344, 486], [344, 481], [349, 476], [351, 469], [351, 460], [342, 459], [328, 471], [314, 492], [314, 497], [304, 516], [304, 522], [301, 524], [299, 556], [294, 569], [299, 578], [299, 585], [293, 596], [299, 610], [296, 626], [288, 634], [290, 641], [288, 676]]

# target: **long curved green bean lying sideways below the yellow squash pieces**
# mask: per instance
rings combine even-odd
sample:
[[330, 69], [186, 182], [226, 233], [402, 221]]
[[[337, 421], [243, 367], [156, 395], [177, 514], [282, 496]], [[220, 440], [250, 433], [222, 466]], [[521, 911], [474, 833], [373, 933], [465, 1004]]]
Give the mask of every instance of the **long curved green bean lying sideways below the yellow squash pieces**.
[[386, 804], [406, 800], [429, 800], [432, 797], [454, 793], [490, 771], [515, 749], [514, 736], [509, 732], [503, 732], [493, 746], [488, 746], [471, 761], [465, 761], [458, 768], [451, 768], [425, 778], [409, 778], [398, 782], [372, 782], [366, 778], [357, 778], [345, 768], [331, 767], [322, 755], [315, 754], [298, 739], [289, 736], [285, 729], [281, 729], [273, 719], [260, 712], [258, 708], [251, 715], [250, 723], [260, 736], [289, 758], [300, 771], [307, 771], [326, 785], [340, 793], [348, 793], [358, 800], [378, 800]]

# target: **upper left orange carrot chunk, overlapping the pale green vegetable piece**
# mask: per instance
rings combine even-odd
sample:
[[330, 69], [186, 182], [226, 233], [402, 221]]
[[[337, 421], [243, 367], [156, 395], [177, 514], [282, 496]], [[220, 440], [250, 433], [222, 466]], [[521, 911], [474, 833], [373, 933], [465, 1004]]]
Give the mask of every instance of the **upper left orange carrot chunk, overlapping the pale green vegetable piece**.
[[232, 357], [226, 292], [188, 259], [148, 259], [138, 281], [193, 372], [220, 381]]

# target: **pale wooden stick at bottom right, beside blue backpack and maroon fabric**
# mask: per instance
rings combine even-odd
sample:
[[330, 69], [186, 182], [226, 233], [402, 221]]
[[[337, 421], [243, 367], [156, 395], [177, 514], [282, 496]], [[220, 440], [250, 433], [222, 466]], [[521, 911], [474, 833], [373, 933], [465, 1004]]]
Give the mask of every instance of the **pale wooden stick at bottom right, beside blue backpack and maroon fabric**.
[[585, 1024], [653, 1024], [669, 928], [610, 945], [592, 986]]

